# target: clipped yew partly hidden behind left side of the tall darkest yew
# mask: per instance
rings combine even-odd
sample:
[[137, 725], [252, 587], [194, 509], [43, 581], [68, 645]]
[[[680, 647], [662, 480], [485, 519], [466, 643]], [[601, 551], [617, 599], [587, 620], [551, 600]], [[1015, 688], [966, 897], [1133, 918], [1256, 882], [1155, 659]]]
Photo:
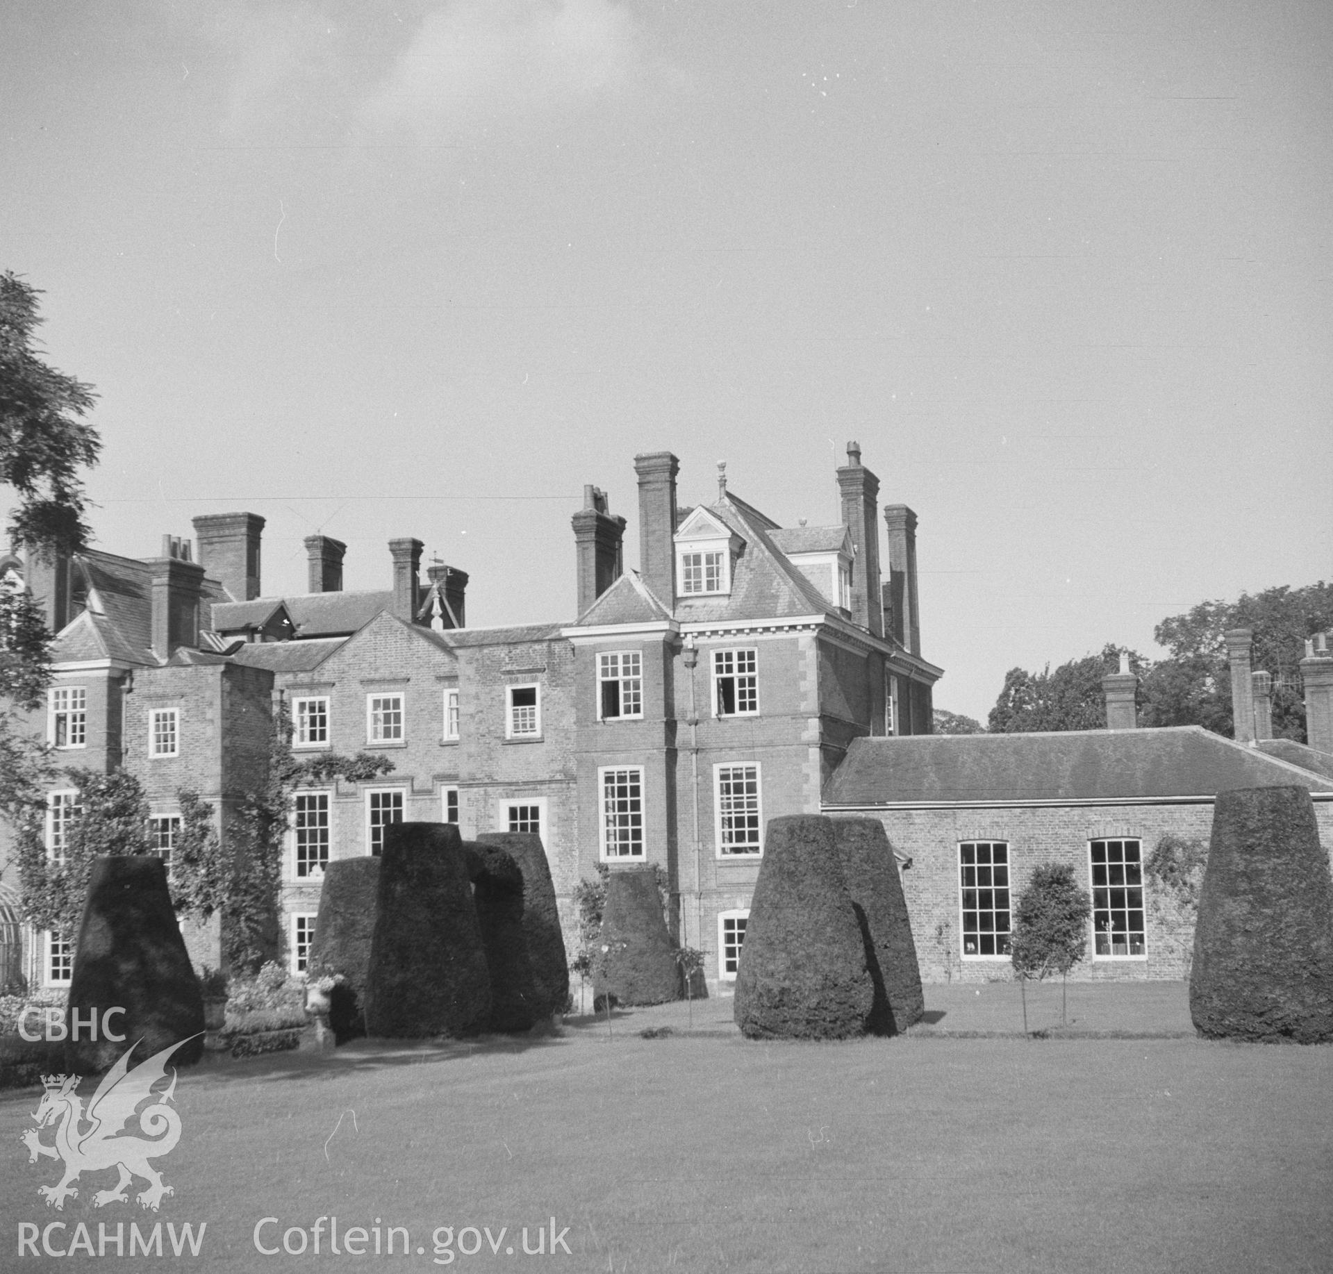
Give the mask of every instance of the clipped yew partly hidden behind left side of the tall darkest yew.
[[365, 1034], [365, 979], [379, 888], [379, 858], [335, 858], [324, 868], [309, 975], [343, 975], [329, 991], [329, 1026], [339, 1043]]

